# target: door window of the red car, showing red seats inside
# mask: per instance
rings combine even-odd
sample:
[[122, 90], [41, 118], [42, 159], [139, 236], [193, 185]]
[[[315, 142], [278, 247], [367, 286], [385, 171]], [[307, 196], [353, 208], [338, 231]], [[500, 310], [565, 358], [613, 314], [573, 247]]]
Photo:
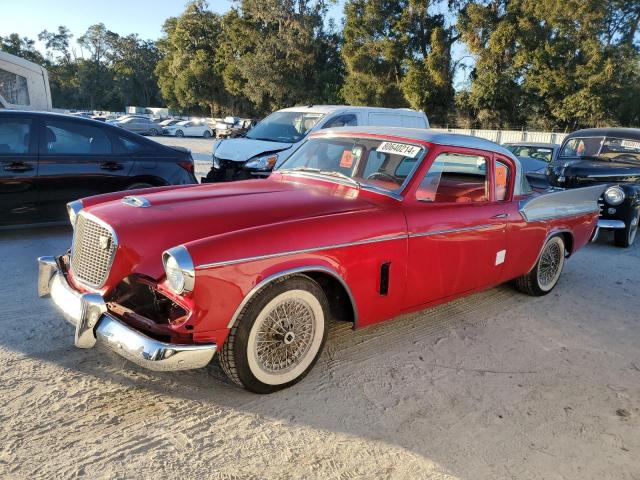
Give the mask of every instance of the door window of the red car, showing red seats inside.
[[441, 153], [420, 183], [416, 198], [436, 203], [486, 202], [488, 185], [485, 157]]

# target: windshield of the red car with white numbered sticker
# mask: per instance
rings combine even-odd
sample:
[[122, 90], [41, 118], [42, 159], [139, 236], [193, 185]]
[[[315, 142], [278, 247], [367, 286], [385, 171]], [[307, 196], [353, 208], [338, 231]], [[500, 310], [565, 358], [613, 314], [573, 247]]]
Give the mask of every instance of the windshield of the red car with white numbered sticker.
[[398, 192], [423, 158], [424, 147], [362, 138], [312, 138], [277, 170], [340, 178]]

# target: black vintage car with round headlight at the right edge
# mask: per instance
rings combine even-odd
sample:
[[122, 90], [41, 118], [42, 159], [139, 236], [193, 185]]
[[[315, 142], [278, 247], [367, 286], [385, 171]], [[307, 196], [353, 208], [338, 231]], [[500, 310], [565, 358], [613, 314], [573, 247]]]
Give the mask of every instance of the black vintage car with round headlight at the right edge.
[[615, 244], [630, 247], [640, 218], [640, 129], [590, 128], [568, 135], [549, 165], [549, 181], [562, 188], [608, 184], [598, 227], [614, 230]]

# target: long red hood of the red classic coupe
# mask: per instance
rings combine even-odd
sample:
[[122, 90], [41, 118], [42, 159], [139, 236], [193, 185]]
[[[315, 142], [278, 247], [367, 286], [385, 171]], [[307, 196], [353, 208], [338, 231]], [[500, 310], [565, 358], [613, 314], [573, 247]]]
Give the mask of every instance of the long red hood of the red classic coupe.
[[109, 280], [113, 286], [131, 272], [159, 278], [163, 274], [162, 252], [177, 245], [305, 218], [378, 208], [371, 199], [353, 192], [350, 187], [335, 184], [249, 180], [148, 194], [140, 190], [133, 196], [149, 202], [148, 207], [112, 200], [84, 211], [115, 231], [118, 253]]

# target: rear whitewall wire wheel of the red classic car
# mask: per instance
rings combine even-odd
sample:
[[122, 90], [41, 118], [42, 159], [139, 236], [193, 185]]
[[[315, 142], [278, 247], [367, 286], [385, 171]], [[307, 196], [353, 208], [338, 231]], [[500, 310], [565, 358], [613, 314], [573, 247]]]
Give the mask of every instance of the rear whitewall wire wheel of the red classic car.
[[535, 267], [516, 279], [518, 290], [536, 297], [546, 295], [558, 283], [564, 267], [565, 246], [562, 237], [555, 236], [547, 240]]

